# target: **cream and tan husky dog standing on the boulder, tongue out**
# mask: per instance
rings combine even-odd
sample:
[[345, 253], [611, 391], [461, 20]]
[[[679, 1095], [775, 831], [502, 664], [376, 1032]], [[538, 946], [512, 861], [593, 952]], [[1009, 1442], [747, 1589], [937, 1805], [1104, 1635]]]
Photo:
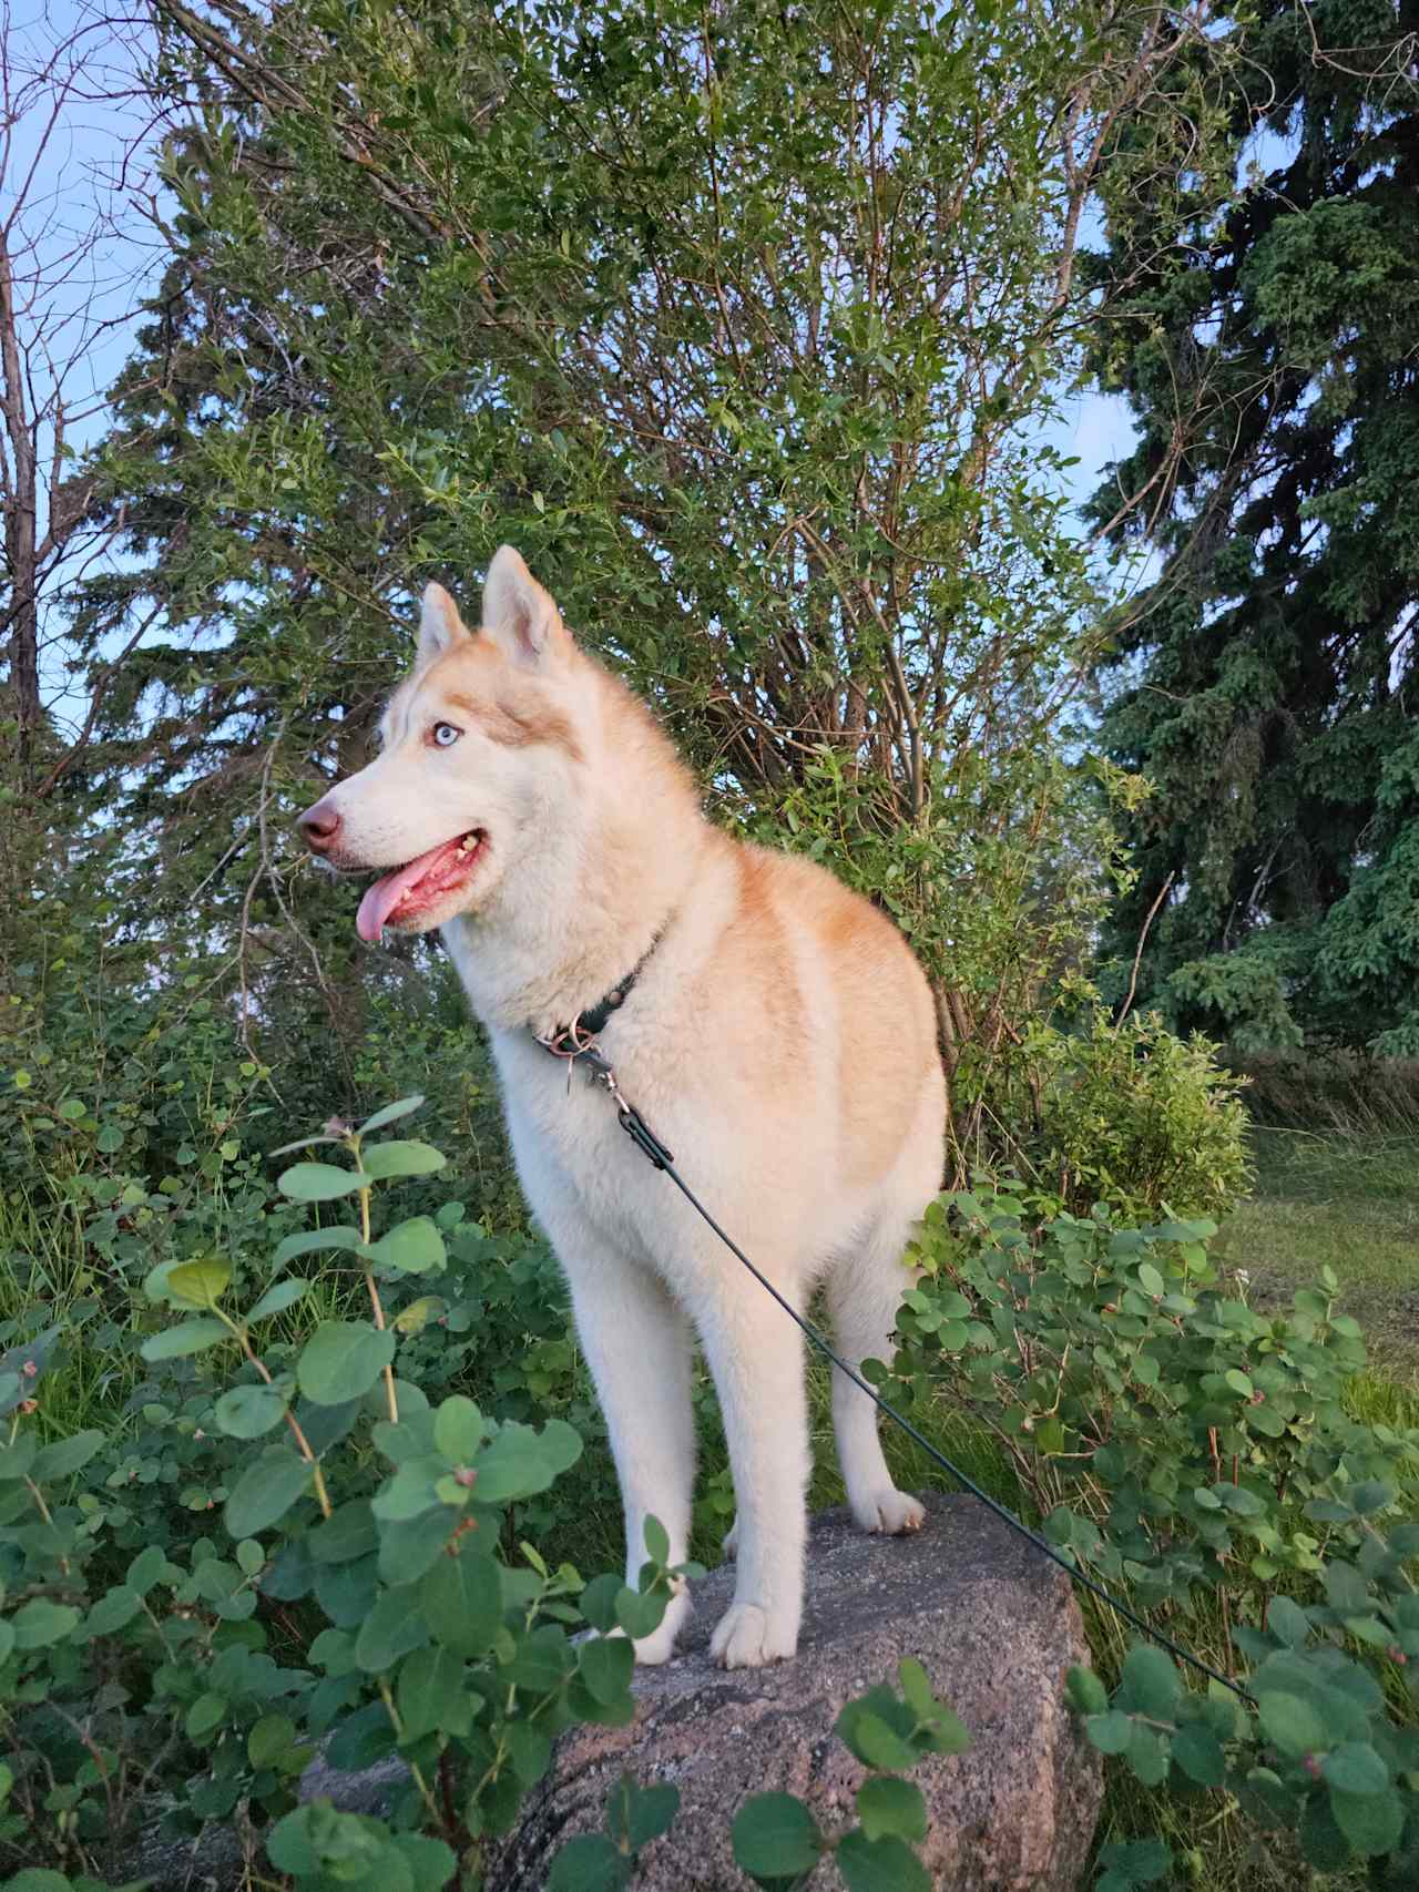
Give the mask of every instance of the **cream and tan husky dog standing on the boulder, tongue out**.
[[[511, 547], [473, 634], [437, 585], [369, 768], [301, 815], [331, 867], [380, 878], [358, 929], [441, 927], [482, 1020], [528, 1201], [566, 1270], [626, 1514], [626, 1578], [658, 1517], [687, 1555], [691, 1345], [713, 1374], [738, 1515], [727, 1669], [795, 1654], [810, 1474], [802, 1341], [626, 1137], [587, 1073], [537, 1042], [626, 990], [600, 1042], [689, 1186], [838, 1351], [884, 1357], [902, 1249], [940, 1186], [944, 1077], [927, 980], [823, 868], [711, 827], [649, 710], [577, 649]], [[636, 974], [634, 984], [630, 974]], [[916, 1531], [876, 1411], [832, 1372], [853, 1517]], [[636, 1644], [666, 1661], [689, 1597]]]

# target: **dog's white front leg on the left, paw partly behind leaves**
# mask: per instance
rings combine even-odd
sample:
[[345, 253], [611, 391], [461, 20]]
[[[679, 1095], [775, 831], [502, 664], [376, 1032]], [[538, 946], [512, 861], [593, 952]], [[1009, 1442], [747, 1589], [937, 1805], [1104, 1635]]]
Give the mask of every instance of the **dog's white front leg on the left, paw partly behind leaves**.
[[[611, 1434], [626, 1514], [626, 1584], [634, 1589], [645, 1563], [647, 1517], [664, 1525], [672, 1563], [689, 1555], [694, 1485], [689, 1326], [653, 1273], [588, 1245], [585, 1232], [577, 1234], [571, 1256], [564, 1256], [564, 1268]], [[668, 1661], [689, 1608], [681, 1587], [660, 1627], [636, 1642], [636, 1661]]]

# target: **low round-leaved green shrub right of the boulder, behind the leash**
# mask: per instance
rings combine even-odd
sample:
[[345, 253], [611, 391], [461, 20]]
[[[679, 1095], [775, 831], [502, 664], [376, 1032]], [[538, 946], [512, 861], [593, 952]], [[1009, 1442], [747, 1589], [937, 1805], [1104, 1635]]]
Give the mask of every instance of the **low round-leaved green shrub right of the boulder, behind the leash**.
[[[1118, 1228], [1027, 1220], [1020, 1194], [955, 1194], [927, 1211], [889, 1391], [948, 1393], [990, 1427], [1071, 1561], [1169, 1606], [1175, 1637], [1209, 1591], [1256, 1708], [1217, 1684], [1184, 1691], [1135, 1648], [1112, 1699], [1071, 1682], [1095, 1746], [1148, 1786], [1235, 1796], [1294, 1833], [1317, 1871], [1419, 1858], [1419, 1527], [1396, 1519], [1419, 1430], [1364, 1425], [1345, 1387], [1360, 1330], [1330, 1270], [1287, 1313], [1224, 1290], [1207, 1220]], [[1404, 1703], [1410, 1703], [1404, 1708]], [[1126, 1892], [1167, 1871], [1139, 1843], [1105, 1860]]]

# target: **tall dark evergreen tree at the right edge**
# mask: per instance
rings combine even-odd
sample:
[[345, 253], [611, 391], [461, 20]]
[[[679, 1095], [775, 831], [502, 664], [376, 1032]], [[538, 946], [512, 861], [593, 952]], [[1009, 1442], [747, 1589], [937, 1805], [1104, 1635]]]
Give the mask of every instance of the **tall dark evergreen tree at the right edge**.
[[1094, 365], [1141, 441], [1094, 503], [1162, 554], [1103, 672], [1154, 785], [1114, 944], [1165, 889], [1139, 999], [1241, 1050], [1419, 1052], [1417, 30], [1262, 0], [1226, 212], [1165, 240], [1131, 191], [1109, 227]]

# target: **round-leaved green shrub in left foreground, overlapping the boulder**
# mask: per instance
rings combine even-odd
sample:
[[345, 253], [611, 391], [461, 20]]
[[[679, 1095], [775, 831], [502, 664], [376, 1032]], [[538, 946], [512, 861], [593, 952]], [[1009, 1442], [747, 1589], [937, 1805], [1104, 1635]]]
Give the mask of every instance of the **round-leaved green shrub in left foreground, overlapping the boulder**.
[[[380, 1135], [418, 1103], [293, 1147], [288, 1217], [348, 1220], [286, 1234], [261, 1279], [212, 1254], [148, 1271], [153, 1381], [112, 1428], [45, 1438], [36, 1394], [61, 1324], [0, 1360], [0, 1866], [40, 1873], [34, 1892], [123, 1871], [155, 1796], [170, 1835], [240, 1822], [267, 1883], [473, 1884], [556, 1733], [632, 1716], [626, 1638], [655, 1629], [698, 1567], [668, 1567], [655, 1519], [638, 1587], [552, 1567], [520, 1533], [581, 1457], [577, 1430], [554, 1413], [484, 1415], [462, 1391], [431, 1402], [414, 1381], [447, 1387], [464, 1334], [507, 1360], [522, 1323], [537, 1332], [549, 1266], [460, 1203], [380, 1226], [388, 1184], [443, 1169], [428, 1143]], [[454, 1292], [428, 1294], [429, 1279]], [[482, 1298], [460, 1294], [471, 1279]], [[494, 1370], [494, 1393], [530, 1415], [571, 1400], [558, 1309], [520, 1377]], [[66, 1326], [96, 1319], [79, 1305]], [[429, 1347], [435, 1328], [447, 1353]], [[902, 1682], [904, 1705], [891, 1691], [857, 1705], [880, 1733], [853, 1733], [844, 1712], [844, 1739], [880, 1769], [965, 1739], [920, 1669]], [[388, 1820], [297, 1805], [316, 1743], [341, 1769], [407, 1763]], [[834, 1841], [850, 1886], [870, 1883], [853, 1877], [859, 1854], [863, 1871], [914, 1864], [910, 1833], [891, 1830], [920, 1824], [901, 1788], [865, 1786], [861, 1830]], [[674, 1790], [621, 1782], [607, 1833], [568, 1847], [552, 1883], [626, 1884], [674, 1809]]]

